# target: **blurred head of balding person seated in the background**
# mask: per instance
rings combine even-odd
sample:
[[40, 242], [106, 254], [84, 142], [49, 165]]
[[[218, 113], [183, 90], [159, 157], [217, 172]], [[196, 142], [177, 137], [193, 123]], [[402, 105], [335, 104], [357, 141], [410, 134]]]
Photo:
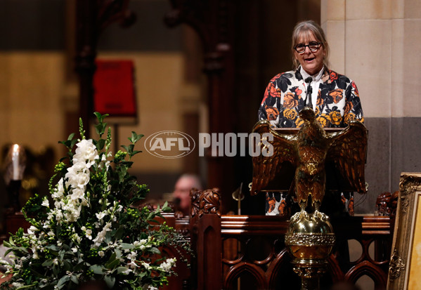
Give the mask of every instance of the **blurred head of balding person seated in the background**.
[[190, 216], [190, 190], [192, 188], [202, 190], [199, 176], [187, 173], [177, 180], [173, 192], [176, 216]]

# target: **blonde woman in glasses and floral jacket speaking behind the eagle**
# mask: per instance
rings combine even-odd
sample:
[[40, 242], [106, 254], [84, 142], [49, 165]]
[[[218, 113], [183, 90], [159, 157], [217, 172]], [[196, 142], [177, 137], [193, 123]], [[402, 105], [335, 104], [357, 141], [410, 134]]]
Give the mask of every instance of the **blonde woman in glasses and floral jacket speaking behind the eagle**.
[[[302, 125], [298, 113], [309, 106], [316, 112], [323, 127], [342, 128], [351, 120], [364, 121], [354, 81], [328, 68], [329, 45], [323, 29], [316, 22], [303, 21], [294, 27], [292, 55], [295, 69], [271, 79], [261, 101], [259, 120], [267, 119], [275, 128], [298, 128]], [[329, 214], [332, 208], [339, 205], [339, 211], [354, 214], [352, 193], [329, 195], [326, 192], [325, 200], [330, 199], [332, 204], [328, 210], [322, 205], [322, 211]], [[279, 209], [282, 209], [285, 199], [288, 206], [293, 204], [284, 194], [267, 193], [266, 214], [281, 215]]]

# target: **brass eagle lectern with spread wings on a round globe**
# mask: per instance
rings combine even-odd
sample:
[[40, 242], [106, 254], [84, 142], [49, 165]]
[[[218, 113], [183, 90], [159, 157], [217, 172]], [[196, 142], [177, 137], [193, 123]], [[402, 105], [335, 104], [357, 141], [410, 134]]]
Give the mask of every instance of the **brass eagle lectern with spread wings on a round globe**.
[[[304, 124], [296, 134], [278, 133], [266, 120], [254, 126], [253, 131], [264, 136], [259, 146], [266, 154], [253, 157], [251, 193], [264, 190], [274, 178], [283, 178], [277, 173], [285, 163], [292, 164], [294, 192], [301, 211], [290, 219], [285, 244], [294, 257], [294, 272], [302, 277], [302, 289], [318, 289], [318, 277], [325, 272], [326, 258], [335, 244], [329, 218], [319, 211], [325, 195], [325, 163], [334, 164], [346, 188], [365, 193], [368, 134], [359, 121], [351, 121], [342, 131], [328, 133], [309, 107], [304, 107], [299, 116]], [[309, 200], [310, 213], [306, 211]]]

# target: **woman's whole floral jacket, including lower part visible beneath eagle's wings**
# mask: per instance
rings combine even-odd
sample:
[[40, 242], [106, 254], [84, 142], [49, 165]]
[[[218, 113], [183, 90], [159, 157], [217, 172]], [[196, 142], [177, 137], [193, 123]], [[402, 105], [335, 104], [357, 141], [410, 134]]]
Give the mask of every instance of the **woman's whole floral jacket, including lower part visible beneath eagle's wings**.
[[[300, 68], [277, 74], [271, 79], [259, 107], [259, 120], [267, 119], [273, 127], [278, 128], [302, 126], [298, 112], [306, 103], [306, 84]], [[354, 81], [326, 68], [321, 80], [315, 112], [323, 127], [344, 128], [351, 120], [364, 121]], [[337, 192], [330, 197], [325, 196], [322, 207], [323, 212], [329, 215], [347, 212], [354, 216], [354, 193]], [[299, 207], [294, 196], [289, 197], [285, 192], [266, 192], [266, 215], [290, 217], [295, 211], [299, 211]]]

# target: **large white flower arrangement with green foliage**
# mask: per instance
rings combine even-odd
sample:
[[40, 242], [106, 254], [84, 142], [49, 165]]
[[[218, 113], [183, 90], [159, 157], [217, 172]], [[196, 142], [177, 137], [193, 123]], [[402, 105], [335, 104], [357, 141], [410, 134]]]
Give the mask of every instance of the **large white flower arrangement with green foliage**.
[[51, 199], [30, 199], [22, 212], [31, 227], [4, 242], [14, 258], [0, 262], [13, 276], [1, 288], [75, 289], [101, 279], [115, 289], [158, 289], [174, 274], [176, 259], [162, 256], [160, 247], [188, 245], [174, 229], [154, 220], [169, 207], [132, 207], [148, 192], [127, 172], [142, 135], [132, 132], [131, 144], [122, 146], [126, 151], [112, 156], [110, 128], [102, 138], [105, 116], [96, 113], [99, 140], [86, 140], [80, 121], [81, 138], [71, 134], [61, 142], [69, 158], [56, 165]]

